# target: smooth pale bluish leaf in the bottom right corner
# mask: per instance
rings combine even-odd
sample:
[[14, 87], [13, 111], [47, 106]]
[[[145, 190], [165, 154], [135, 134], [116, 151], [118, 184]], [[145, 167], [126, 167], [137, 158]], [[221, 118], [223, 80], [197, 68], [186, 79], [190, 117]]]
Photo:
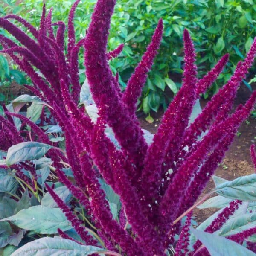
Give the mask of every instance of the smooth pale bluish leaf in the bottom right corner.
[[252, 251], [227, 238], [194, 228], [191, 228], [191, 231], [204, 244], [211, 256], [255, 256]]

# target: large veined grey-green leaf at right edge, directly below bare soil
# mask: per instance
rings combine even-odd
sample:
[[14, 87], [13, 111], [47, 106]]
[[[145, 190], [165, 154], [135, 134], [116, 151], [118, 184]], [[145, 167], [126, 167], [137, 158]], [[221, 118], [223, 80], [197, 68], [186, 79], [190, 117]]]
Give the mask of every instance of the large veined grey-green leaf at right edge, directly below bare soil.
[[215, 192], [227, 198], [256, 201], [256, 174], [238, 177], [215, 187]]

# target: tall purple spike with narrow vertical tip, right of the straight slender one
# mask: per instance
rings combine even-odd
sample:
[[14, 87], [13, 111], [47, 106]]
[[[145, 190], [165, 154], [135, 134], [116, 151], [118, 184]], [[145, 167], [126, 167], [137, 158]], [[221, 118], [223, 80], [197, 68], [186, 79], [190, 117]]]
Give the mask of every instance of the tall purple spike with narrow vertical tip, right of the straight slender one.
[[[185, 47], [183, 86], [164, 114], [163, 121], [154, 135], [153, 143], [147, 151], [141, 188], [145, 195], [145, 204], [151, 204], [151, 198], [157, 198], [157, 191], [163, 178], [162, 164], [166, 156], [167, 146], [169, 143], [177, 146], [180, 144], [196, 99], [195, 50], [186, 29], [183, 38]], [[145, 189], [147, 193], [145, 193]]]

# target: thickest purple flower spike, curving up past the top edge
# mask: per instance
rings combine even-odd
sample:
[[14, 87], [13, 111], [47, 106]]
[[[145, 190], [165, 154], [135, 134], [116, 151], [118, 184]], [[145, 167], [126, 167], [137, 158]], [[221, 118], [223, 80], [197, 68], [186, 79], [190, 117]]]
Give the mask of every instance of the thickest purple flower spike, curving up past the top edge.
[[[115, 0], [99, 0], [96, 3], [84, 43], [84, 64], [99, 115], [113, 128], [119, 144], [128, 152], [134, 164], [140, 167], [147, 149], [143, 131], [120, 102], [105, 55], [114, 5]], [[127, 134], [125, 138], [123, 131]], [[136, 173], [134, 177], [137, 178]]]

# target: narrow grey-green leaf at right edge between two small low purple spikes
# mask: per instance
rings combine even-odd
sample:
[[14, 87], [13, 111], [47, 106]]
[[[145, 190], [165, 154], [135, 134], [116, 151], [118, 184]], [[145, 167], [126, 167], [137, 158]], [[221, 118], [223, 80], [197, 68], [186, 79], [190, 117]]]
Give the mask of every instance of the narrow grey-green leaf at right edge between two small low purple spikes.
[[219, 230], [220, 236], [230, 236], [244, 230], [248, 230], [256, 226], [256, 212], [247, 213], [236, 216], [230, 221], [225, 223], [221, 230]]

